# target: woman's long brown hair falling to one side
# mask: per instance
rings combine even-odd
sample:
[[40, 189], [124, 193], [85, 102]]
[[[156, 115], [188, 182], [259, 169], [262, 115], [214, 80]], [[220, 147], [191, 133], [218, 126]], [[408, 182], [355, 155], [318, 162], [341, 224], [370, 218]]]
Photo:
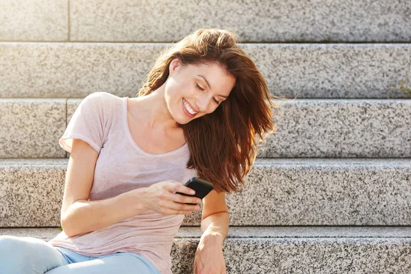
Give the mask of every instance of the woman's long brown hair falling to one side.
[[210, 114], [193, 119], [184, 131], [190, 149], [187, 168], [212, 182], [216, 192], [238, 192], [239, 184], [251, 169], [258, 143], [275, 131], [271, 107], [278, 108], [264, 77], [236, 42], [231, 29], [198, 29], [162, 50], [138, 96], [160, 88], [169, 77], [175, 58], [184, 64], [216, 63], [236, 78], [229, 97]]

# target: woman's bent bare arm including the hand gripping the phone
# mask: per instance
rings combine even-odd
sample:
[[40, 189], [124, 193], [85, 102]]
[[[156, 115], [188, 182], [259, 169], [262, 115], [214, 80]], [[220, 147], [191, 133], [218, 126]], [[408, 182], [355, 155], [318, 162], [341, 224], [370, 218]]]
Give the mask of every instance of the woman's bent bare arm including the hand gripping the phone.
[[136, 188], [109, 199], [88, 201], [98, 156], [86, 142], [73, 139], [60, 220], [67, 236], [102, 229], [147, 210], [161, 214], [188, 214], [199, 210], [195, 209], [195, 203], [201, 203], [201, 199], [175, 193], [192, 195], [192, 189], [173, 180]]

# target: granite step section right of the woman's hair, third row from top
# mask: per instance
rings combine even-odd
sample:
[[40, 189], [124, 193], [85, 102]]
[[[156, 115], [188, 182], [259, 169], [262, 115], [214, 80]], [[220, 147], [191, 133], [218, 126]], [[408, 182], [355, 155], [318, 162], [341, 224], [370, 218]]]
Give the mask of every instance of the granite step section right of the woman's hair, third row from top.
[[279, 101], [258, 157], [411, 158], [410, 99]]

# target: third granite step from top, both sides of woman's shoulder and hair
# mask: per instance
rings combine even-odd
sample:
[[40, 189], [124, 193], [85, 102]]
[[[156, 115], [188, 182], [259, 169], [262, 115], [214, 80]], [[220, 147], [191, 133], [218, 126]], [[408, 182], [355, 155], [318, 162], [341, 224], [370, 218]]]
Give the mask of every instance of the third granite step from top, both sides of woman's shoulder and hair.
[[[0, 158], [65, 158], [82, 99], [0, 99]], [[411, 158], [411, 99], [276, 100], [262, 158]]]

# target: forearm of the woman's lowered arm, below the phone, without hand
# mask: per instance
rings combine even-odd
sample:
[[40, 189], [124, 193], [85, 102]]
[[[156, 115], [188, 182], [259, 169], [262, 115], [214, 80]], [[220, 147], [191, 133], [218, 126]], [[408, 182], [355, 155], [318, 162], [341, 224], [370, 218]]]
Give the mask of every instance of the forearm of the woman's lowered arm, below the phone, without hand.
[[228, 212], [218, 212], [207, 216], [201, 221], [201, 238], [213, 240], [223, 247], [225, 237], [229, 229]]

